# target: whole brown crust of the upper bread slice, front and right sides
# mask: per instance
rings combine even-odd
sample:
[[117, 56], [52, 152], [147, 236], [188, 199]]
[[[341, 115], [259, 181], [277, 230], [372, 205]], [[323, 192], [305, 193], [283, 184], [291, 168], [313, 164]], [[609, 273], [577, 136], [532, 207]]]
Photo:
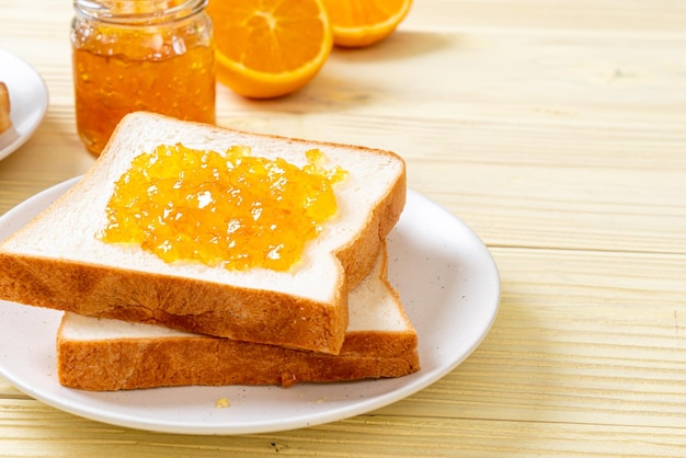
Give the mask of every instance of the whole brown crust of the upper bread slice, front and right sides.
[[[145, 116], [164, 119], [160, 115]], [[209, 133], [230, 130], [214, 126], [202, 128]], [[277, 136], [256, 136], [287, 145], [341, 147]], [[335, 293], [331, 302], [268, 290], [268, 285], [264, 289], [236, 287], [84, 263], [64, 256], [28, 255], [3, 250], [2, 245], [0, 298], [94, 317], [162, 324], [235, 340], [338, 354], [347, 325], [347, 291], [371, 271], [382, 241], [404, 207], [407, 186], [404, 162], [395, 153], [357, 146], [343, 147], [388, 156], [401, 165], [401, 172], [370, 208], [364, 228], [334, 253], [340, 261], [336, 268], [341, 270], [341, 274], [334, 282]], [[108, 153], [110, 145], [99, 161]], [[93, 169], [87, 172], [84, 179], [93, 173]], [[53, 206], [71, 198], [77, 193], [77, 186]], [[38, 218], [41, 216], [34, 221]]]

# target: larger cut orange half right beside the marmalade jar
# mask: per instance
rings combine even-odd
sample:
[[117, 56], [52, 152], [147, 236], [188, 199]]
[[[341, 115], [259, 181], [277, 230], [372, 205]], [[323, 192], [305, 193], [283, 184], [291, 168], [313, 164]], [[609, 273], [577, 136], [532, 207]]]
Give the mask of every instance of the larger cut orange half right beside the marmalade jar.
[[321, 0], [211, 0], [217, 79], [247, 98], [294, 92], [320, 70], [333, 46]]

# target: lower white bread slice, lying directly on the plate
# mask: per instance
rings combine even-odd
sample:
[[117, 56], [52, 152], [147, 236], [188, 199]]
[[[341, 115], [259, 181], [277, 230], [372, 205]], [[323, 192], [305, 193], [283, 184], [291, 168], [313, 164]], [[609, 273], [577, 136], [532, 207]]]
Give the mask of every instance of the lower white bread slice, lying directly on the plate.
[[386, 282], [385, 256], [350, 293], [339, 355], [190, 334], [65, 313], [57, 336], [60, 383], [111, 391], [185, 385], [283, 385], [400, 377], [419, 370], [418, 337]]

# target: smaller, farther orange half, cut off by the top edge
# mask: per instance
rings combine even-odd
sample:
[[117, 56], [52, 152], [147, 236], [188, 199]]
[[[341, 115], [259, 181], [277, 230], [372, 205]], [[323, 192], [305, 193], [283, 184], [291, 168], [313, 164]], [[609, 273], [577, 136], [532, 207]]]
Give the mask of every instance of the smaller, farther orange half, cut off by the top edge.
[[363, 47], [390, 35], [408, 15], [412, 0], [324, 0], [333, 43]]

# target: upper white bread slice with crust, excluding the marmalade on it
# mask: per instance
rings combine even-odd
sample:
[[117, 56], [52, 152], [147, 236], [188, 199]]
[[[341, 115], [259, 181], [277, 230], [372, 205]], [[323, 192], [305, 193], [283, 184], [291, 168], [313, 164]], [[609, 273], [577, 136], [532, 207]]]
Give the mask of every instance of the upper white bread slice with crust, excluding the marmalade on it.
[[[334, 185], [338, 214], [293, 272], [165, 263], [138, 247], [96, 239], [114, 183], [134, 157], [178, 142], [218, 152], [245, 145], [253, 156], [300, 167], [307, 163], [305, 151], [318, 148], [327, 168], [347, 172]], [[135, 113], [69, 192], [0, 244], [0, 298], [335, 354], [347, 324], [347, 290], [370, 272], [404, 199], [404, 162], [389, 151]]]

